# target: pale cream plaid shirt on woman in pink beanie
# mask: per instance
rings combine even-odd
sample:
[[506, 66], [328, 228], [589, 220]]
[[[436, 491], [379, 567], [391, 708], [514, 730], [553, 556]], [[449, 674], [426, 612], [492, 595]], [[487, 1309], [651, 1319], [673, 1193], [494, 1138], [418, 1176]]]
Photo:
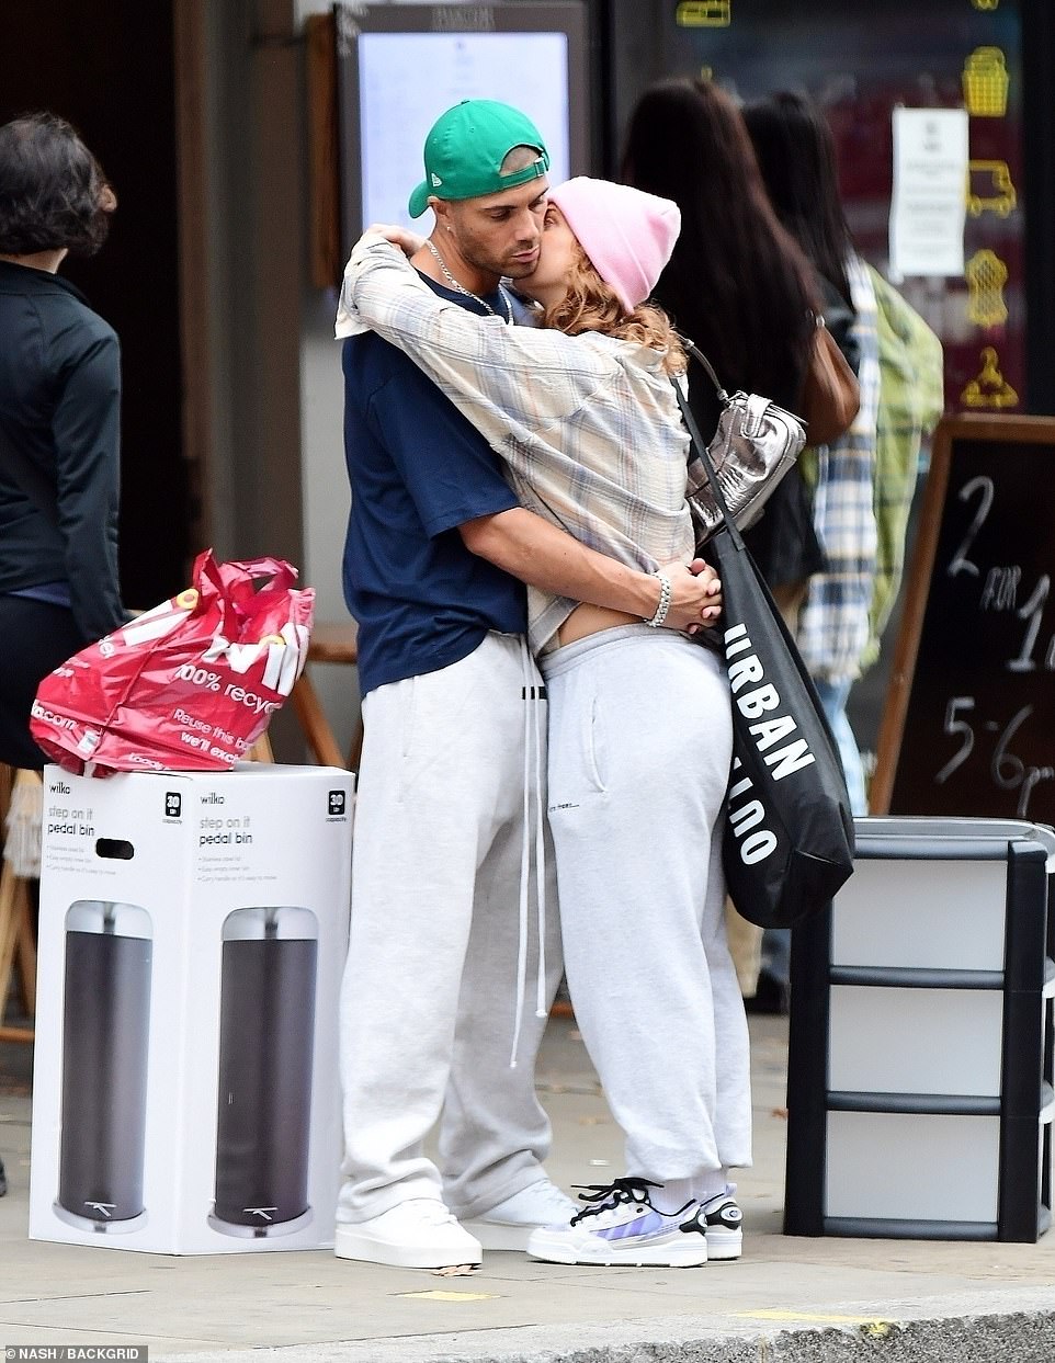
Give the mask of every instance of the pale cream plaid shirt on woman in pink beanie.
[[[522, 506], [643, 572], [690, 562], [688, 435], [658, 352], [474, 316], [376, 233], [348, 262], [335, 333], [367, 328], [405, 350], [481, 432]], [[534, 653], [577, 605], [529, 589]]]

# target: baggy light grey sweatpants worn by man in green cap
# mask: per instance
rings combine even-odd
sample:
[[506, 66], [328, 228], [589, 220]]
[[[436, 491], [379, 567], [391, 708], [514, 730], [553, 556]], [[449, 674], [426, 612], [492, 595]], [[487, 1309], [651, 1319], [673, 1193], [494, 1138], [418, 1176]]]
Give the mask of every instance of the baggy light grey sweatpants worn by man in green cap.
[[[545, 825], [545, 703], [519, 637], [489, 634], [439, 672], [371, 691], [341, 994], [345, 1182], [339, 1221], [413, 1197], [472, 1217], [542, 1178], [549, 1122], [534, 1096], [545, 1011], [560, 980], [552, 846], [542, 1017], [536, 1017], [534, 875], [517, 1067], [525, 763], [529, 827]], [[526, 751], [525, 716], [538, 741]], [[443, 1176], [423, 1141], [440, 1118]]]

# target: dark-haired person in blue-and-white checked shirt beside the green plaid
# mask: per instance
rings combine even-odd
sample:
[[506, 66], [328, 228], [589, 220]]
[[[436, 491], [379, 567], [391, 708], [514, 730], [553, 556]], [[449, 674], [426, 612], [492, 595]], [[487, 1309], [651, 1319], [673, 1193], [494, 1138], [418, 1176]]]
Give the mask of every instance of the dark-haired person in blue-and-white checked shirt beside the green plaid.
[[[744, 109], [744, 123], [777, 217], [810, 259], [825, 300], [825, 323], [857, 373], [860, 408], [849, 428], [807, 453], [814, 529], [825, 567], [810, 578], [795, 622], [803, 661], [838, 743], [853, 814], [868, 812], [857, 740], [846, 718], [861, 672], [876, 567], [875, 454], [879, 408], [876, 298], [868, 266], [853, 249], [838, 194], [836, 143], [821, 109], [780, 91]], [[786, 1010], [791, 932], [762, 938], [756, 1007]]]

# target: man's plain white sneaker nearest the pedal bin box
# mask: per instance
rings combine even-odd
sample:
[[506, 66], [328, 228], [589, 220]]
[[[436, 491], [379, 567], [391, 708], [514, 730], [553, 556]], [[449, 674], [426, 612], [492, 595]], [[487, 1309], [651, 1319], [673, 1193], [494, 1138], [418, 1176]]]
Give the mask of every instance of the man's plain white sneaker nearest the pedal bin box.
[[338, 1259], [365, 1259], [399, 1269], [446, 1269], [478, 1264], [478, 1240], [455, 1221], [439, 1198], [416, 1197], [369, 1221], [339, 1223], [334, 1236]]

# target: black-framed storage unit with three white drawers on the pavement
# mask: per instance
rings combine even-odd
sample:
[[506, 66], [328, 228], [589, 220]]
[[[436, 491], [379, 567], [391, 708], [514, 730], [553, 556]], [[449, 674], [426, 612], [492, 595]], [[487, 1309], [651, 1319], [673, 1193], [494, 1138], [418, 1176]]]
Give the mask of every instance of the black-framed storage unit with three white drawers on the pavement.
[[1055, 831], [856, 821], [793, 932], [788, 1235], [1035, 1242], [1052, 1206]]

